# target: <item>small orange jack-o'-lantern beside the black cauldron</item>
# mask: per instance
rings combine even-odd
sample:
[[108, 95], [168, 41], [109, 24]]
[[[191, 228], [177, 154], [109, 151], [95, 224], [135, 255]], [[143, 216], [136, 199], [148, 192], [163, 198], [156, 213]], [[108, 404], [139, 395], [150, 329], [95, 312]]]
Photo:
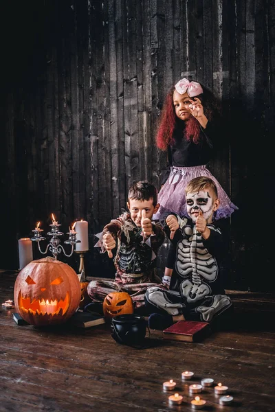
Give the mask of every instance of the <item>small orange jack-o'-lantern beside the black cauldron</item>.
[[133, 313], [133, 300], [129, 293], [111, 292], [103, 301], [104, 317], [113, 318], [118, 314]]

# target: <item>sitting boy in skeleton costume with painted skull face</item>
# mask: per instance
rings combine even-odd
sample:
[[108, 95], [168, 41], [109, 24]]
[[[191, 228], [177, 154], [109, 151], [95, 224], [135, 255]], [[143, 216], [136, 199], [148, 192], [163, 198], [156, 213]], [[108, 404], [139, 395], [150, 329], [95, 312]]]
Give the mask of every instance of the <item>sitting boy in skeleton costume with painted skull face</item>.
[[[186, 206], [190, 219], [177, 214], [165, 219], [165, 231], [175, 251], [174, 256], [170, 255], [174, 268], [170, 268], [170, 290], [154, 286], [146, 291], [151, 329], [164, 330], [184, 320], [225, 321], [232, 313], [232, 302], [225, 295], [219, 271], [226, 247], [218, 222], [212, 223], [219, 207], [212, 179], [200, 176], [188, 183]], [[169, 262], [166, 266], [171, 267]]]

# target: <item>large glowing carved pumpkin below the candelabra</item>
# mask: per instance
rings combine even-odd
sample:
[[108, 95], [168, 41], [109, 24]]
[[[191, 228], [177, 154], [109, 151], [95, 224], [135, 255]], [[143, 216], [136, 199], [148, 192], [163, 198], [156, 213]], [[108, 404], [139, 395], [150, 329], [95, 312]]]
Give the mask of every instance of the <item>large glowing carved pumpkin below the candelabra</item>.
[[74, 269], [48, 256], [33, 260], [17, 275], [14, 306], [31, 325], [67, 321], [80, 302], [80, 282]]

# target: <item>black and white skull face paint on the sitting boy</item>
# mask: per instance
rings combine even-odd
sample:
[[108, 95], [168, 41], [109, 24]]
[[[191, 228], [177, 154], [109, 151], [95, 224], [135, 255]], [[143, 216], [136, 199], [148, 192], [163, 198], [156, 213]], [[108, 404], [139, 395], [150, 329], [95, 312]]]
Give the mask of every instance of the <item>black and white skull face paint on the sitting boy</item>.
[[213, 201], [209, 192], [188, 193], [186, 194], [187, 213], [193, 222], [196, 222], [199, 216], [199, 211], [203, 213], [203, 218], [208, 218], [212, 214]]

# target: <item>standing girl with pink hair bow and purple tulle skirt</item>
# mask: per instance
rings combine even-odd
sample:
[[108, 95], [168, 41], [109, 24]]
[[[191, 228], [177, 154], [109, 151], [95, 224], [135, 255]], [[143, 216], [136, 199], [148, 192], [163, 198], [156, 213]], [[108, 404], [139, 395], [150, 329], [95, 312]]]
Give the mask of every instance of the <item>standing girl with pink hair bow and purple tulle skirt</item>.
[[179, 80], [168, 93], [156, 137], [157, 147], [167, 151], [168, 171], [154, 219], [162, 219], [171, 211], [187, 216], [185, 188], [197, 176], [208, 176], [217, 185], [221, 205], [214, 220], [228, 218], [238, 209], [206, 168], [224, 142], [226, 130], [223, 135], [220, 130], [218, 104], [212, 93], [198, 82]]

